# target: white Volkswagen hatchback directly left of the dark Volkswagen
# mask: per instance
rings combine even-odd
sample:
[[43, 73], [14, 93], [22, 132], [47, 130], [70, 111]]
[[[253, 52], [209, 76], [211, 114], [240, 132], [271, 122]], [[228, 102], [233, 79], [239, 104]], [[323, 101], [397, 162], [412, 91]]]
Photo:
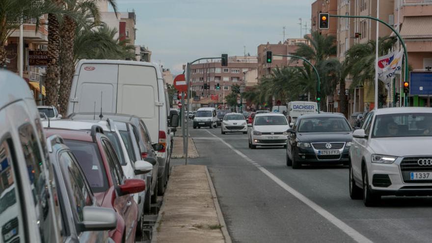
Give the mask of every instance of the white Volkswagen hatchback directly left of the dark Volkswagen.
[[286, 131], [290, 128], [287, 118], [279, 113], [256, 114], [252, 124], [247, 125], [249, 148], [256, 146], [287, 146]]

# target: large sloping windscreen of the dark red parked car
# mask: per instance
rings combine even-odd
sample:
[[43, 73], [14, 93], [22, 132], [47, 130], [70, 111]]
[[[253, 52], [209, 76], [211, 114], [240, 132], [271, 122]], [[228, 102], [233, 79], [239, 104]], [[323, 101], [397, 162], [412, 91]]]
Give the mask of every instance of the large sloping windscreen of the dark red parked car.
[[64, 140], [78, 160], [85, 178], [93, 192], [104, 192], [108, 189], [108, 179], [102, 163], [98, 145], [92, 142]]

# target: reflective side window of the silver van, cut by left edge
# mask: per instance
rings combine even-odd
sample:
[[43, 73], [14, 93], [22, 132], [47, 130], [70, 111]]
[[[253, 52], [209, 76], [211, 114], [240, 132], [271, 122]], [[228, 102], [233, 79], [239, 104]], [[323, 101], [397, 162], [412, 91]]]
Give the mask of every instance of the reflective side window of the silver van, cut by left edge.
[[[11, 146], [9, 147], [8, 144]], [[16, 182], [16, 161], [12, 160], [12, 141], [0, 143], [0, 225], [4, 242], [26, 242], [26, 228], [23, 225], [26, 212], [21, 206], [19, 185]], [[28, 240], [28, 239], [27, 239]]]

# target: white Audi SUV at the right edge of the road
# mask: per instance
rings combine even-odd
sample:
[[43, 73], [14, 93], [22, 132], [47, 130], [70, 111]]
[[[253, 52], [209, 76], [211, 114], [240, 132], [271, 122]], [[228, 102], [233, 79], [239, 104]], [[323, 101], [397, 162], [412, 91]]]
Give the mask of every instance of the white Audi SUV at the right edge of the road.
[[432, 108], [373, 110], [352, 136], [352, 199], [432, 195]]

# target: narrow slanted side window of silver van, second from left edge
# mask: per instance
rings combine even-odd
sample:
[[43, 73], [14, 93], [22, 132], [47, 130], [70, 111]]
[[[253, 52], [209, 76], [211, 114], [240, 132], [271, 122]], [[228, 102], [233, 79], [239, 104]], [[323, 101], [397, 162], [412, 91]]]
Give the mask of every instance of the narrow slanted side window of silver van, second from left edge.
[[36, 220], [39, 222], [41, 241], [55, 242], [55, 239], [51, 239], [54, 236], [51, 231], [55, 228], [56, 222], [53, 221], [53, 217], [47, 216], [51, 211], [50, 192], [43, 168], [43, 159], [38, 143], [39, 138], [29, 123], [22, 125], [18, 132], [26, 161], [28, 179], [33, 192], [34, 210], [37, 215]]

